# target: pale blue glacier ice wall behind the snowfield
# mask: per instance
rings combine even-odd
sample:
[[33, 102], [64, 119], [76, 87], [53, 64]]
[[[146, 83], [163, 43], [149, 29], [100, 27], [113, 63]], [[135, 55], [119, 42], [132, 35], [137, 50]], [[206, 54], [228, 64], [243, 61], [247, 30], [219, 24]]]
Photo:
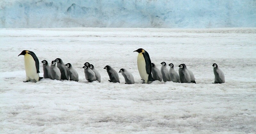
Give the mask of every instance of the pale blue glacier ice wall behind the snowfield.
[[256, 0], [1, 0], [0, 28], [256, 27]]

